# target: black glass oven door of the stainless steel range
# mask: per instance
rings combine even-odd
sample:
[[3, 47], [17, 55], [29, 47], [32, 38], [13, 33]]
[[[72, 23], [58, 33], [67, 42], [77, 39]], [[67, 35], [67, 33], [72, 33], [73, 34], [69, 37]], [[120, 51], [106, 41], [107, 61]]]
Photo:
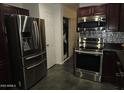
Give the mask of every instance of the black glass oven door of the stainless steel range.
[[102, 53], [76, 52], [76, 68], [100, 72]]

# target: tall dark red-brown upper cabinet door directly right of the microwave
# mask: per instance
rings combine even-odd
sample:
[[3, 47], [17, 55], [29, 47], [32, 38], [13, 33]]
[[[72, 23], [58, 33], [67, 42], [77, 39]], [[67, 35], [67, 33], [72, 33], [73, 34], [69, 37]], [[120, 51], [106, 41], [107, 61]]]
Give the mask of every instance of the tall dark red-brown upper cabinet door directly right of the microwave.
[[118, 31], [120, 4], [107, 4], [107, 30]]

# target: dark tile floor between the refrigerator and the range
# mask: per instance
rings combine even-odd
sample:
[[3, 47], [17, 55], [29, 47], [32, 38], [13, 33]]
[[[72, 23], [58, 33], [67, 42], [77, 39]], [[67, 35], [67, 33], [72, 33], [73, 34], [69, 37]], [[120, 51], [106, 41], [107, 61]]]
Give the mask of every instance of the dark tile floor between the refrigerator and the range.
[[117, 87], [74, 76], [71, 59], [63, 65], [55, 65], [50, 68], [47, 76], [33, 86], [31, 90], [117, 90]]

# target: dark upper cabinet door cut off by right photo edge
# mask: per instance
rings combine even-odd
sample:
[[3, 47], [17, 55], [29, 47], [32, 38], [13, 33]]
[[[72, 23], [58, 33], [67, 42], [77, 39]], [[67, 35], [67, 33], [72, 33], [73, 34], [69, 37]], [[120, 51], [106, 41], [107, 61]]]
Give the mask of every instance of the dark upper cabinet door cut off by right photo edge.
[[124, 32], [124, 4], [121, 4], [121, 9], [120, 9], [120, 27], [119, 27], [120, 32]]

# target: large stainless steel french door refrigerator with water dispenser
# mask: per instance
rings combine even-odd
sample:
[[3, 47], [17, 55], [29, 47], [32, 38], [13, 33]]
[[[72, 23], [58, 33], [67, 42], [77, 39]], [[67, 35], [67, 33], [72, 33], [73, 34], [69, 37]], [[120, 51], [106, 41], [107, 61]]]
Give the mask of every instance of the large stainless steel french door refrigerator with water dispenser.
[[47, 73], [44, 20], [23, 15], [7, 15], [13, 83], [29, 89]]

